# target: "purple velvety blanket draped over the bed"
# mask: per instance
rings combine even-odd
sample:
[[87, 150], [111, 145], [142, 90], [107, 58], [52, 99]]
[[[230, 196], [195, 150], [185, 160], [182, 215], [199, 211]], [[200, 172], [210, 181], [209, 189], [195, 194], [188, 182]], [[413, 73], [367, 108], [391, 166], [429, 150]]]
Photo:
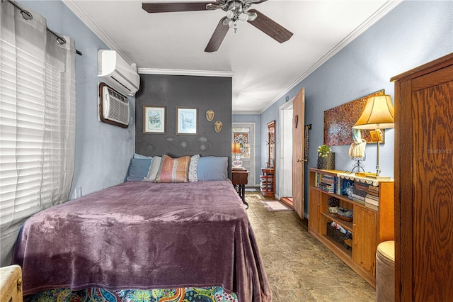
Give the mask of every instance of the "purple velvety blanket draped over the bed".
[[222, 286], [271, 301], [246, 210], [231, 181], [132, 181], [36, 213], [13, 263], [23, 293]]

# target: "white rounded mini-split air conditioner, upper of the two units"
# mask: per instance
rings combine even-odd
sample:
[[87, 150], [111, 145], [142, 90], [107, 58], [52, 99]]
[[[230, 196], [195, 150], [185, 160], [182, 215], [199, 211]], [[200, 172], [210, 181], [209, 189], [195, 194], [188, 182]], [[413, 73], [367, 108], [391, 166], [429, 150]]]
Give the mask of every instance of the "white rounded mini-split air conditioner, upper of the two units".
[[98, 51], [98, 77], [127, 96], [134, 96], [140, 87], [140, 76], [135, 68], [115, 50]]

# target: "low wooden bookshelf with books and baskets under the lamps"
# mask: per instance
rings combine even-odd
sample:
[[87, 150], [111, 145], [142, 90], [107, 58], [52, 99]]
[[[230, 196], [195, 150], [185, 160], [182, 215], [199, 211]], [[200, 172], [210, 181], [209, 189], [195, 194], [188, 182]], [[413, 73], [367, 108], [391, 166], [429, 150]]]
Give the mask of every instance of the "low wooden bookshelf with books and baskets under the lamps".
[[[350, 221], [332, 213], [329, 198], [352, 211]], [[309, 233], [376, 287], [377, 245], [394, 240], [394, 181], [310, 168]]]

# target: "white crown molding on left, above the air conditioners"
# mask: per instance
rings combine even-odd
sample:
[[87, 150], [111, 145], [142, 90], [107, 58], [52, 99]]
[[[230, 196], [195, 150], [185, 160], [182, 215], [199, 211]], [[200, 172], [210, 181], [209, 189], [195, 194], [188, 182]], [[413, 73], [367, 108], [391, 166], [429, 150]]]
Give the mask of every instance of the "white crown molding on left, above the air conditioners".
[[79, 18], [99, 39], [103, 41], [111, 50], [115, 50], [118, 52], [125, 61], [132, 65], [132, 60], [130, 60], [124, 52], [120, 50], [110, 37], [104, 33], [101, 28], [93, 21], [92, 18], [88, 16], [88, 14], [82, 9], [78, 4], [77, 1], [74, 0], [62, 0], [63, 4], [67, 6], [69, 10], [71, 10], [77, 18]]

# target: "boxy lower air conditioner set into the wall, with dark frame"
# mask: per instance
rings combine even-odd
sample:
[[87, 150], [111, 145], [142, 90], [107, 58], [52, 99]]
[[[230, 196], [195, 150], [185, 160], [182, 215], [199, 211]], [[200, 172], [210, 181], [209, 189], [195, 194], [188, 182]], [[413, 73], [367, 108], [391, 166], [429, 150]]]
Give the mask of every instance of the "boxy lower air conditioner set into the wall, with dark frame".
[[99, 118], [122, 128], [129, 126], [129, 100], [105, 83], [99, 84]]

